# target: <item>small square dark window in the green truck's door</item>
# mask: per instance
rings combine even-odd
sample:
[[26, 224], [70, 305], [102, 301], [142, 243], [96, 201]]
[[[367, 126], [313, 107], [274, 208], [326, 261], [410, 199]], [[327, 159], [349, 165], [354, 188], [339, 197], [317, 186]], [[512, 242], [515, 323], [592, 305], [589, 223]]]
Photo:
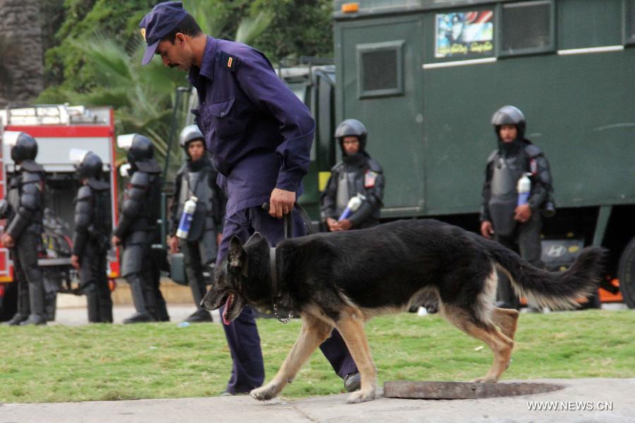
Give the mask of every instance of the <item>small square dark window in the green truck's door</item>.
[[403, 45], [403, 40], [357, 45], [360, 98], [403, 94]]

